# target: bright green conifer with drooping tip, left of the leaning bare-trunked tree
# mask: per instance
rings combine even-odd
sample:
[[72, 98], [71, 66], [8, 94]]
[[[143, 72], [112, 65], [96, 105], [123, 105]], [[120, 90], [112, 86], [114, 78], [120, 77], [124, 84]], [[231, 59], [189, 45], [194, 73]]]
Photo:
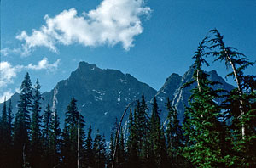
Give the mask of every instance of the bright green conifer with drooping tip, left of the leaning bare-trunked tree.
[[222, 90], [213, 90], [212, 86], [219, 83], [208, 81], [207, 74], [201, 70], [202, 64], [207, 64], [203, 58], [206, 39], [201, 42], [193, 57], [193, 78], [197, 86], [192, 90], [189, 108], [186, 109], [189, 118], [184, 129], [189, 143], [184, 148], [184, 157], [196, 167], [226, 167], [231, 162], [230, 155], [225, 154], [222, 144], [229, 145], [229, 142], [223, 138], [226, 135], [225, 123], [220, 120], [223, 114], [215, 101], [220, 98], [219, 93]]

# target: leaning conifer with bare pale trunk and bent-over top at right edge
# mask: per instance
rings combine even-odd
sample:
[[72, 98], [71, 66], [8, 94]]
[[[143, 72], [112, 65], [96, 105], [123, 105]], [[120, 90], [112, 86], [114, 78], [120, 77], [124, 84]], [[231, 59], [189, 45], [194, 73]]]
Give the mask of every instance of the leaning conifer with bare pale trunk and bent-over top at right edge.
[[236, 48], [227, 47], [223, 40], [224, 36], [218, 30], [214, 29], [210, 32], [213, 33], [209, 41], [213, 51], [207, 54], [215, 56], [215, 61], [224, 61], [227, 68], [231, 67], [232, 71], [227, 76], [232, 76], [236, 81], [236, 89], [230, 92], [224, 102], [225, 113], [228, 119], [232, 120], [230, 126], [233, 145], [232, 160], [234, 165], [239, 167], [255, 166], [256, 152], [251, 148], [256, 142], [254, 106], [256, 76], [244, 74], [244, 70], [248, 66], [253, 66], [255, 62], [248, 61], [246, 56], [239, 53]]

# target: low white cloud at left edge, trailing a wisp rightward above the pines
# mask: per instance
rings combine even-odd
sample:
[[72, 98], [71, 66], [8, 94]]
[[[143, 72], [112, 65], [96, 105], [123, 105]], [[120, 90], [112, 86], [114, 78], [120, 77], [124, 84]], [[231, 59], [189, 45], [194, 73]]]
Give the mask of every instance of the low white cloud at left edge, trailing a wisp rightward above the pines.
[[3, 61], [0, 63], [0, 89], [6, 87], [10, 83], [14, 82], [14, 78], [17, 76], [17, 73], [21, 70], [48, 70], [54, 71], [57, 70], [61, 59], [57, 59], [54, 63], [50, 64], [47, 58], [43, 58], [38, 61], [38, 64], [28, 64], [24, 65], [16, 65], [13, 66], [9, 62]]

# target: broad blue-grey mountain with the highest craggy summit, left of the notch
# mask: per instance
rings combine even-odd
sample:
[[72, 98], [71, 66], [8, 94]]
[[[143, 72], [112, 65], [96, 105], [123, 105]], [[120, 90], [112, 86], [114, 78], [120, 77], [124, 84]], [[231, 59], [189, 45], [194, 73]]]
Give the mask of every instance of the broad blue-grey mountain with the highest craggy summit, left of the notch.
[[[142, 93], [150, 99], [156, 92], [130, 74], [123, 74], [119, 70], [102, 70], [95, 64], [80, 62], [78, 69], [67, 80], [58, 82], [53, 90], [43, 93], [42, 109], [48, 103], [57, 109], [63, 126], [65, 109], [74, 97], [78, 100], [78, 109], [84, 115], [86, 126], [91, 124], [94, 133], [100, 129], [109, 137], [115, 118], [120, 118], [127, 104], [141, 98]], [[16, 111], [19, 94], [15, 93], [11, 99]]]

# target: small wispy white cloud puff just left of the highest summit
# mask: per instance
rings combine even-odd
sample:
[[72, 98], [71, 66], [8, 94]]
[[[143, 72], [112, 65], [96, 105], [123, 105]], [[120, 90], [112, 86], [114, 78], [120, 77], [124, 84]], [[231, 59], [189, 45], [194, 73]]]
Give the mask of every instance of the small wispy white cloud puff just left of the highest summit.
[[60, 64], [61, 59], [57, 59], [55, 61], [55, 63], [50, 64], [47, 58], [43, 58], [42, 60], [40, 60], [38, 62], [38, 64], [34, 65], [34, 64], [28, 64], [26, 66], [26, 69], [30, 69], [30, 70], [56, 70]]

